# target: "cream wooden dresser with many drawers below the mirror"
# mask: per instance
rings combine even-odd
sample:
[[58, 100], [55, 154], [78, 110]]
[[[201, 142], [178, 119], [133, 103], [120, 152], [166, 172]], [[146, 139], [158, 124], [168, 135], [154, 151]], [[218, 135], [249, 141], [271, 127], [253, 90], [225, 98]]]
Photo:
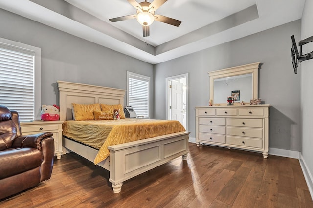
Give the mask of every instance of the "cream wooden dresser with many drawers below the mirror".
[[268, 104], [196, 107], [196, 143], [262, 152], [268, 157]]

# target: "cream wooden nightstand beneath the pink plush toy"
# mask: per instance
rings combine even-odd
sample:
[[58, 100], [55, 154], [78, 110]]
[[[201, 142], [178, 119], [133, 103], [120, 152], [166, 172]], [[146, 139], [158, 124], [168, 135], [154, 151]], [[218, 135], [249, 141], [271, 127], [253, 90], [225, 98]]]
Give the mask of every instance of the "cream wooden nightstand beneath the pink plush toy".
[[20, 123], [22, 135], [52, 132], [54, 152], [57, 159], [61, 159], [62, 155], [62, 124], [63, 121], [32, 121]]

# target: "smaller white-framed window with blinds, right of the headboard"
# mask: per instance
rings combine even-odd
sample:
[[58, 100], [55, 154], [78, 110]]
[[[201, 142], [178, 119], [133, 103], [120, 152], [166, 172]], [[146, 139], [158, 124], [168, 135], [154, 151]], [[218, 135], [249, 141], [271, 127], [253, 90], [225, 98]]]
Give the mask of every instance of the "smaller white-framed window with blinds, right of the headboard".
[[137, 116], [150, 118], [150, 77], [127, 72], [127, 105]]

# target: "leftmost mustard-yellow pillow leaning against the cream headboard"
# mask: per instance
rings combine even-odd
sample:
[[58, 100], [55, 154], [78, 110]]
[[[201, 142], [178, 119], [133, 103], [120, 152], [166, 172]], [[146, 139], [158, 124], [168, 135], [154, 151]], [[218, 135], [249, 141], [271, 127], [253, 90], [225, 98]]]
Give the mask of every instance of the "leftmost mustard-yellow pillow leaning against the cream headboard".
[[93, 111], [101, 111], [100, 104], [75, 104], [73, 107], [73, 120], [94, 120]]

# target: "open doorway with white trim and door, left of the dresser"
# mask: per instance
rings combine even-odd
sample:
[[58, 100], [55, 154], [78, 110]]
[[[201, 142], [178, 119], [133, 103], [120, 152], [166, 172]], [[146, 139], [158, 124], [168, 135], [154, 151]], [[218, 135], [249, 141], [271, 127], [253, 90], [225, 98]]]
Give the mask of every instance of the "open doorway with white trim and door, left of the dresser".
[[166, 119], [177, 120], [188, 130], [188, 74], [166, 78]]

